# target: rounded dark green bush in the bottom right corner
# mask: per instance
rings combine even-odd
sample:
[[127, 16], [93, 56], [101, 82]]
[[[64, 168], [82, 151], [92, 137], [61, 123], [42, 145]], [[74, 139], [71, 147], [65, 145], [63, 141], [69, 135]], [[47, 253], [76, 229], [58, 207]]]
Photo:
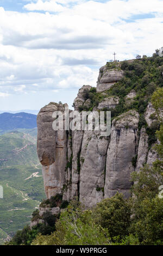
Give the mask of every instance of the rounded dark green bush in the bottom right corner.
[[145, 198], [139, 204], [131, 225], [141, 245], [163, 245], [163, 199]]

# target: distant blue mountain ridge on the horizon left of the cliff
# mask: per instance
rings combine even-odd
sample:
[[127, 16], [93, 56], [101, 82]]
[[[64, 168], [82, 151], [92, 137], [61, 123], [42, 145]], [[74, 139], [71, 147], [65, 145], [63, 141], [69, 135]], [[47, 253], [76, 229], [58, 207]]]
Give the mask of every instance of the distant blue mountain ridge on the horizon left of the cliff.
[[16, 129], [33, 129], [37, 127], [37, 115], [29, 113], [2, 113], [0, 114], [0, 132]]

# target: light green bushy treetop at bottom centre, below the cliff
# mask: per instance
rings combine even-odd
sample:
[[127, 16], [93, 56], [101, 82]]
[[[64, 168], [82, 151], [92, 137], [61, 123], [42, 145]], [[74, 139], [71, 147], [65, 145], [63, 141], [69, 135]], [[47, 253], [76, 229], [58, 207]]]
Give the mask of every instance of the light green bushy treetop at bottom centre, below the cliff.
[[37, 236], [32, 245], [109, 245], [108, 231], [92, 220], [92, 212], [70, 204], [61, 212], [56, 231]]

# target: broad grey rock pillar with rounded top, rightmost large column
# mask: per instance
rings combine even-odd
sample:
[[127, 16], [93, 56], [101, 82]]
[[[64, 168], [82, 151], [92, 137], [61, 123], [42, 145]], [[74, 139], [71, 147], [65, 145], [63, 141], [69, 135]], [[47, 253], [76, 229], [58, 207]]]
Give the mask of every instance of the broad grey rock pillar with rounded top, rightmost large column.
[[113, 121], [111, 138], [106, 159], [105, 198], [116, 192], [130, 195], [130, 173], [134, 171], [131, 163], [137, 153], [137, 127], [139, 114], [129, 111]]

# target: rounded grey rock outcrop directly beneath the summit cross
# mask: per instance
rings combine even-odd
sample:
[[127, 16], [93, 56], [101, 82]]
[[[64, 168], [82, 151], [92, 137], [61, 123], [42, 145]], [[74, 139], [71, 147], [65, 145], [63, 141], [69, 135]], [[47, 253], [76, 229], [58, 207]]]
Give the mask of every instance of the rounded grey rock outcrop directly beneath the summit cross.
[[123, 70], [114, 68], [109, 69], [107, 65], [99, 69], [99, 76], [97, 81], [97, 93], [104, 92], [112, 87], [116, 82], [120, 81], [123, 77]]

